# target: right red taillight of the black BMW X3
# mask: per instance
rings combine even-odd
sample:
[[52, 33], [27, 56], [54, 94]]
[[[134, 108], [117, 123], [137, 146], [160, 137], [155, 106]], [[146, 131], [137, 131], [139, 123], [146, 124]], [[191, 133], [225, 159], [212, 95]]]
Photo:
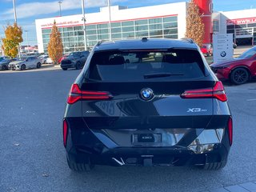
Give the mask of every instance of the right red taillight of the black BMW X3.
[[226, 102], [226, 94], [222, 82], [216, 82], [213, 88], [200, 90], [186, 90], [181, 94], [182, 98], [217, 98], [222, 102]]

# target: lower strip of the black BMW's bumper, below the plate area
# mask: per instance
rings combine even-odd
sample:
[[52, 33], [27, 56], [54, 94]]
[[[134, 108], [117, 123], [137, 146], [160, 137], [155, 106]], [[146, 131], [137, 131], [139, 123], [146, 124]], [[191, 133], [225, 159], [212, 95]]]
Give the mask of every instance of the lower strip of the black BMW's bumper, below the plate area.
[[[164, 148], [116, 148], [104, 149], [102, 153], [88, 153], [88, 150], [72, 148], [67, 158], [72, 162], [106, 166], [143, 166], [146, 162], [156, 166], [194, 166], [227, 159], [228, 151], [222, 144], [204, 154], [194, 154], [192, 150], [178, 147]], [[90, 160], [88, 160], [90, 159]]]

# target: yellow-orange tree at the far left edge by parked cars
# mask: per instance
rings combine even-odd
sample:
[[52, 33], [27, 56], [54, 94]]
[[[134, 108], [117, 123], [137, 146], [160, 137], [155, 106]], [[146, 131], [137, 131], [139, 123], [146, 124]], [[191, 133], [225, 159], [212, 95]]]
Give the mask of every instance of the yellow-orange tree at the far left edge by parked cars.
[[2, 50], [6, 56], [15, 58], [18, 55], [18, 45], [23, 42], [22, 27], [14, 22], [14, 26], [5, 28], [6, 38], [2, 38]]

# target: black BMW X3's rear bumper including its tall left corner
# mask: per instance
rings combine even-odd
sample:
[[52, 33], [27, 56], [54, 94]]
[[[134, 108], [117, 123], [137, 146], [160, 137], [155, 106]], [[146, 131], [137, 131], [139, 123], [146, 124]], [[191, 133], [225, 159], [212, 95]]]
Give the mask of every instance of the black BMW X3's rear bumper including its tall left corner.
[[[71, 162], [90, 161], [95, 165], [107, 166], [146, 165], [147, 163], [160, 166], [193, 166], [225, 161], [230, 150], [226, 133], [223, 133], [222, 142], [210, 144], [210, 150], [197, 152], [190, 147], [194, 138], [186, 141], [181, 139], [173, 146], [122, 146], [116, 140], [112, 140], [109, 133], [104, 136], [102, 130], [88, 129], [81, 118], [70, 119], [68, 122], [66, 154]], [[200, 130], [195, 132], [198, 133]], [[190, 134], [193, 133], [190, 132]], [[194, 137], [197, 138], [197, 136]], [[188, 140], [191, 141], [188, 142]], [[207, 146], [209, 145], [204, 147], [208, 149]]]

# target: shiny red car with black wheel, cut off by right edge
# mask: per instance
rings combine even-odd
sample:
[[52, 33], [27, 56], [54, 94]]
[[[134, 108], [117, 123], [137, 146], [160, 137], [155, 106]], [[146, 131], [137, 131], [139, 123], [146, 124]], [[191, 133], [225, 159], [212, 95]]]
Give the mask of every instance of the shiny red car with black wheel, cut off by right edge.
[[230, 80], [242, 84], [256, 77], [256, 46], [241, 54], [238, 58], [210, 65], [220, 80]]

